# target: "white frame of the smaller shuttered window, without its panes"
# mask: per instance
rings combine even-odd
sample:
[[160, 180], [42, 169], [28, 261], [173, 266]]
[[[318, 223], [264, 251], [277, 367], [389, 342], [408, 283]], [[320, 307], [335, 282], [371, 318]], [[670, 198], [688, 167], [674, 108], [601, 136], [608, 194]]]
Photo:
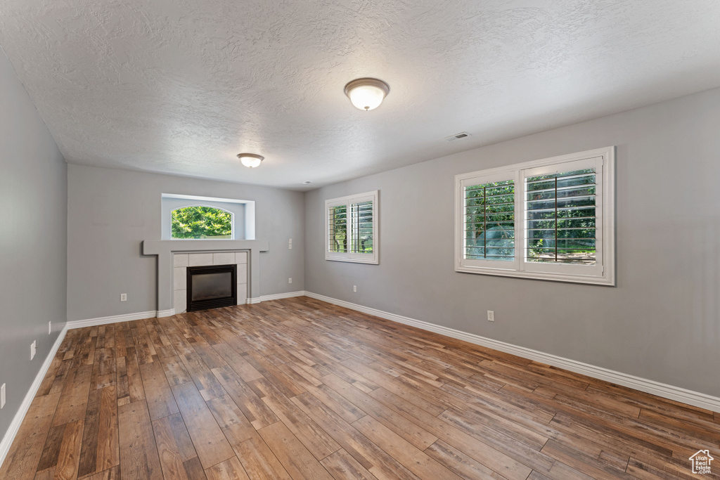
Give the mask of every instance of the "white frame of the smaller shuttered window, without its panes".
[[[336, 199], [325, 200], [325, 260], [339, 261], [339, 262], [351, 262], [351, 263], [379, 263], [379, 231], [377, 226], [378, 222], [378, 191], [368, 191], [364, 194], [355, 194], [348, 196], [341, 196]], [[364, 201], [372, 201], [372, 253], [352, 253], [352, 228], [350, 225], [350, 214], [352, 204], [362, 203]], [[330, 207], [338, 207], [345, 205], [348, 212], [347, 220], [347, 231], [346, 237], [348, 239], [348, 251], [347, 252], [331, 252], [329, 249], [330, 245]]]

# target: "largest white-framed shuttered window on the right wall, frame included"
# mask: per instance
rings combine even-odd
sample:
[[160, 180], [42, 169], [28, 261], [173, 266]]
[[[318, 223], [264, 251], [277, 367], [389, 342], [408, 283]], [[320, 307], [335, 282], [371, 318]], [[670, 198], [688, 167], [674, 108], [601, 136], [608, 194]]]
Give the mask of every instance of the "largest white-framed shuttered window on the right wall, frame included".
[[456, 176], [455, 270], [614, 285], [613, 153]]

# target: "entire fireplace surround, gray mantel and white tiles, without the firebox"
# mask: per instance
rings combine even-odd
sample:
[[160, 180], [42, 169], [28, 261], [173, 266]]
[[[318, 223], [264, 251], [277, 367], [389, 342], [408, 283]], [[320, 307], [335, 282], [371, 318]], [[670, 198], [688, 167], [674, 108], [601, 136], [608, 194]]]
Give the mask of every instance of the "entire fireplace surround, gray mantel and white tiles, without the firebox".
[[267, 240], [143, 240], [143, 255], [158, 257], [158, 317], [187, 308], [188, 266], [238, 266], [238, 304], [260, 299], [260, 253]]

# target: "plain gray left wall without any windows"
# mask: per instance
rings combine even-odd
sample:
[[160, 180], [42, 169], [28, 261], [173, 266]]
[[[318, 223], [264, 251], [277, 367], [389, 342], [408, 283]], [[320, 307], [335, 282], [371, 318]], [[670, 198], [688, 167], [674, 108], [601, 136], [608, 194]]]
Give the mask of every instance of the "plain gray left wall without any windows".
[[67, 194], [63, 155], [0, 50], [0, 439], [66, 322]]

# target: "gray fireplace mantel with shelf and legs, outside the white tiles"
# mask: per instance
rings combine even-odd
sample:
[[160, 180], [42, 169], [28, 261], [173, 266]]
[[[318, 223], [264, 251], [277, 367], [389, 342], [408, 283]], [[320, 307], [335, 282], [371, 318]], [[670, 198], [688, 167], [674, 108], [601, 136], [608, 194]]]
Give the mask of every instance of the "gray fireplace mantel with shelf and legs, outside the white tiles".
[[158, 317], [173, 311], [173, 255], [248, 250], [250, 282], [248, 296], [260, 296], [260, 252], [270, 250], [268, 240], [143, 240], [143, 255], [158, 257]]

